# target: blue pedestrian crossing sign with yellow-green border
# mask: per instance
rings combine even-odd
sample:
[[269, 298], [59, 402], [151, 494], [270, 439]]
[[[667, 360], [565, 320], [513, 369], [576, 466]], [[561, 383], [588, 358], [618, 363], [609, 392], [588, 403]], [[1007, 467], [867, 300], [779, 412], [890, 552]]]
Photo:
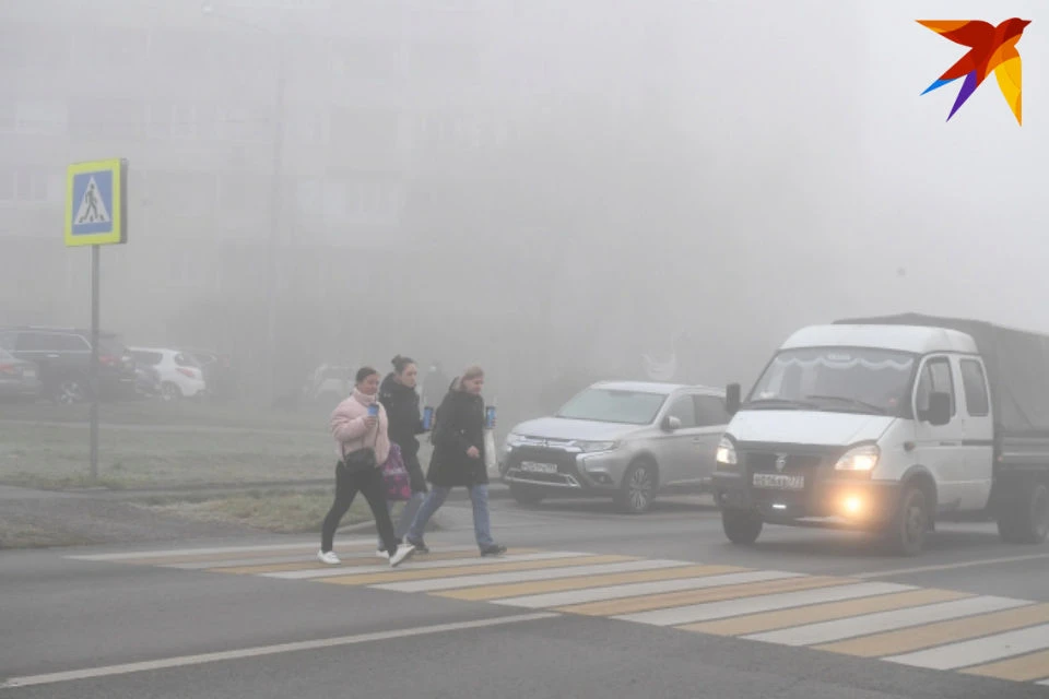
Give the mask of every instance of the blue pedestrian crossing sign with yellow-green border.
[[66, 245], [128, 241], [128, 162], [117, 158], [74, 163], [67, 170]]

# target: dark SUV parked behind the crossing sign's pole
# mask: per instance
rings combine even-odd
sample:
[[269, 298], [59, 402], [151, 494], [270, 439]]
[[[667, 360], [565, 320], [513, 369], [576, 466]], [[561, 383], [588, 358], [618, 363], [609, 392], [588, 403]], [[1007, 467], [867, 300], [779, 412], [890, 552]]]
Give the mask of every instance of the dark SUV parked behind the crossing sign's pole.
[[[24, 325], [0, 329], [0, 347], [36, 365], [44, 394], [62, 404], [91, 399], [91, 331]], [[134, 359], [110, 332], [98, 333], [99, 398], [133, 398]]]

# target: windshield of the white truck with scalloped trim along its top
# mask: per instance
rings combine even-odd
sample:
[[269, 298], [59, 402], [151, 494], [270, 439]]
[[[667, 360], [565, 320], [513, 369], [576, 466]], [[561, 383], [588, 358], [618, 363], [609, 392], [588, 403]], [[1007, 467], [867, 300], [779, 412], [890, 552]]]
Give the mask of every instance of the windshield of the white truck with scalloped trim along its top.
[[754, 384], [747, 406], [901, 415], [915, 362], [885, 350], [786, 350]]

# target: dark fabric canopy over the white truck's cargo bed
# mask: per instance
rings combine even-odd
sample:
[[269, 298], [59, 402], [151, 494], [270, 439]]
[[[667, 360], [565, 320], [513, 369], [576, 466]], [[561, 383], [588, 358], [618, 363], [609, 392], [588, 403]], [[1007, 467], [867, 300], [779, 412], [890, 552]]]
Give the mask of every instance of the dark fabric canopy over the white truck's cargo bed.
[[1002, 436], [1049, 435], [1049, 335], [921, 313], [853, 318], [834, 324], [924, 325], [967, 333], [987, 367], [995, 430]]

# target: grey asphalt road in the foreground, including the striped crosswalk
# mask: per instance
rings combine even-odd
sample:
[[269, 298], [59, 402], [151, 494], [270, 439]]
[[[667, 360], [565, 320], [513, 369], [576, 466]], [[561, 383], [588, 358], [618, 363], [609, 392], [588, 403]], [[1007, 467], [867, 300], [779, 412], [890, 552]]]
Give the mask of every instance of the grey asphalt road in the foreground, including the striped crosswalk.
[[0, 697], [1049, 697], [1049, 546], [992, 524], [895, 558], [816, 530], [735, 548], [695, 499], [492, 507], [506, 558], [449, 502], [392, 572], [367, 535], [338, 571], [303, 537], [0, 552]]

